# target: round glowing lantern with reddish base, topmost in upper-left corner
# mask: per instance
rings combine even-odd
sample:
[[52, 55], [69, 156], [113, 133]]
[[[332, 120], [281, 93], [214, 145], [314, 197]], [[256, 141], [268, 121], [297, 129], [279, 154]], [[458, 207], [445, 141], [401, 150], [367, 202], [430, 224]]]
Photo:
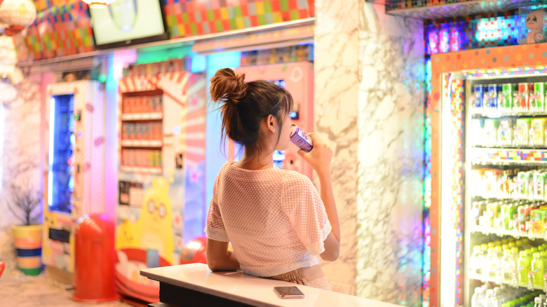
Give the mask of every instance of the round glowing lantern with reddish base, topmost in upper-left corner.
[[0, 23], [4, 32], [13, 35], [32, 25], [36, 19], [36, 6], [31, 0], [0, 0]]

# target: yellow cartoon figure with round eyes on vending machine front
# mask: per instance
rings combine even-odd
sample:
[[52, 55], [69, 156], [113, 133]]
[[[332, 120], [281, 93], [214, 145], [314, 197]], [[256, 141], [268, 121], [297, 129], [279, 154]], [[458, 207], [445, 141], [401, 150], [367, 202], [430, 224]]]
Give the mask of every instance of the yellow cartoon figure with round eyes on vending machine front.
[[163, 177], [155, 177], [144, 193], [137, 228], [140, 229], [140, 247], [158, 250], [173, 264], [173, 208], [169, 200], [169, 184]]

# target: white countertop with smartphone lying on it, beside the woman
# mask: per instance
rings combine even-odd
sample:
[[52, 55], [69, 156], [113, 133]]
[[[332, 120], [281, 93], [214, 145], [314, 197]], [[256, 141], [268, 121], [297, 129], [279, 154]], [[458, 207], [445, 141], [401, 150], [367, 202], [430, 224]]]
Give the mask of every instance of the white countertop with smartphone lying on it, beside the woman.
[[[241, 272], [212, 272], [206, 264], [147, 268], [141, 270], [140, 275], [255, 306], [399, 306], [280, 280], [256, 278]], [[274, 292], [274, 286], [297, 286], [306, 297], [304, 299], [280, 299]]]

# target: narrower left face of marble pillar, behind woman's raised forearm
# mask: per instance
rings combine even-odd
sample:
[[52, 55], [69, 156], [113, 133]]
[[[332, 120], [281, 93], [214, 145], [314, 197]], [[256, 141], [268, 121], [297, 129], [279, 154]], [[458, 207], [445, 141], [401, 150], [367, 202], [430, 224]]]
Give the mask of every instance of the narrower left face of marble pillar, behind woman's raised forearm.
[[330, 145], [340, 220], [340, 257], [322, 263], [334, 291], [355, 294], [358, 1], [316, 1], [314, 131]]

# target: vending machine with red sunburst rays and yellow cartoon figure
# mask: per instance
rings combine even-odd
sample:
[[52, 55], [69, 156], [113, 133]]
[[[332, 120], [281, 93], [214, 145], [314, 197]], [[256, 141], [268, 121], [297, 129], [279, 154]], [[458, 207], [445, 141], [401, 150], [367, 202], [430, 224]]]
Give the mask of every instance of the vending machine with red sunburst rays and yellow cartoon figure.
[[184, 263], [205, 227], [203, 74], [170, 71], [119, 81], [116, 288], [158, 301], [140, 269]]

